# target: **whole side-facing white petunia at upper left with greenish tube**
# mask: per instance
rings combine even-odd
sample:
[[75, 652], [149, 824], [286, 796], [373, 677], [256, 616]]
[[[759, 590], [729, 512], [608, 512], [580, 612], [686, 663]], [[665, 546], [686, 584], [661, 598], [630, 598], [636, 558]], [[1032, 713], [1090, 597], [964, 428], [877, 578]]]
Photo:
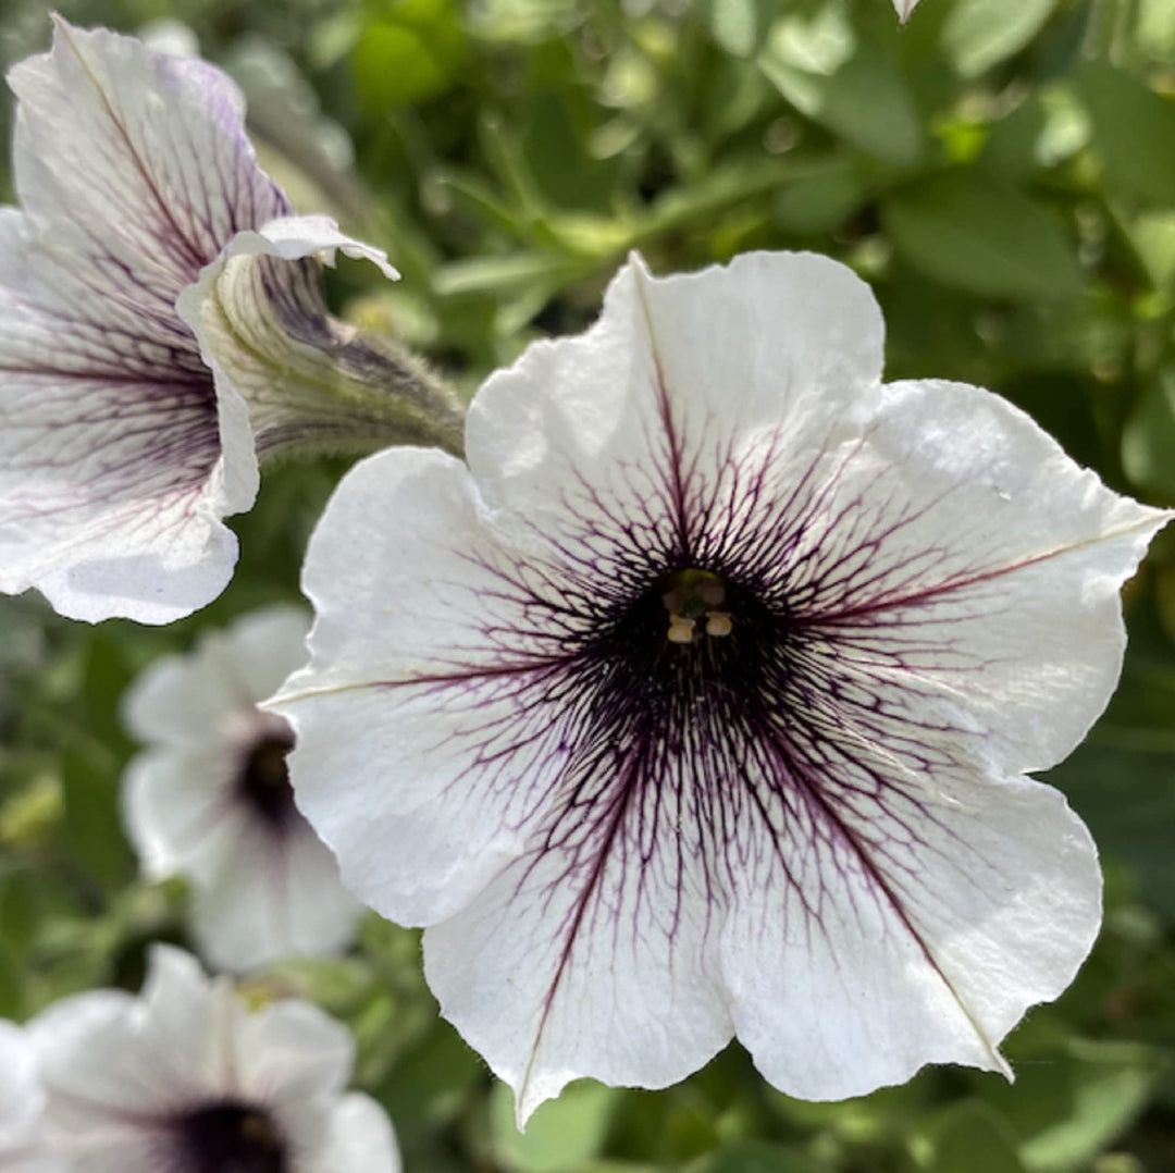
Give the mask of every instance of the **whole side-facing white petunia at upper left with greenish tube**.
[[166, 623], [228, 582], [258, 456], [458, 442], [417, 364], [328, 315], [320, 261], [395, 270], [290, 216], [228, 78], [56, 19], [8, 81], [0, 590]]

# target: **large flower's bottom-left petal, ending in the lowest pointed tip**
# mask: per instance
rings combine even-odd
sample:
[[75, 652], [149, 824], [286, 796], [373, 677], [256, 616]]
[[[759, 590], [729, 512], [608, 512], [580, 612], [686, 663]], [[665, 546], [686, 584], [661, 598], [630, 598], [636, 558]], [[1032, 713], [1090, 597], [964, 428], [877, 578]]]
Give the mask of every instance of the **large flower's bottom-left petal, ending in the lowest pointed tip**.
[[707, 798], [646, 751], [611, 729], [580, 746], [528, 853], [424, 933], [442, 1013], [519, 1127], [572, 1079], [665, 1087], [733, 1034]]

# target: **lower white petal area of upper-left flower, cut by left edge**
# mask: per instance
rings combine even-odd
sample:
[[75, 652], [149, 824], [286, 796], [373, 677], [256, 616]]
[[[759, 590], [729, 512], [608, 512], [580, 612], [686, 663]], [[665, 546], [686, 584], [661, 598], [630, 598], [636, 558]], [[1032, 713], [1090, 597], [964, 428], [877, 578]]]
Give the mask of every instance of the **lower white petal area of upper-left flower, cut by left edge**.
[[[256, 457], [226, 472], [180, 323], [122, 303], [0, 209], [0, 589], [62, 614], [170, 622], [228, 581]], [[251, 470], [251, 480], [250, 480]]]

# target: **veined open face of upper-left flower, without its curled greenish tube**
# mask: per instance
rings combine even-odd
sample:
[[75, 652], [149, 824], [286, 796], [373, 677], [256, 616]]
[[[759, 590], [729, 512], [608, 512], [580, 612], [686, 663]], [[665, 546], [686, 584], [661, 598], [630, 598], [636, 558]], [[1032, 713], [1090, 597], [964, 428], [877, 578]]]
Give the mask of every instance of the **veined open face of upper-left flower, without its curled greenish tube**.
[[58, 20], [8, 75], [24, 212], [0, 213], [0, 589], [166, 623], [215, 597], [247, 509], [243, 403], [217, 408], [175, 300], [289, 209], [203, 62]]

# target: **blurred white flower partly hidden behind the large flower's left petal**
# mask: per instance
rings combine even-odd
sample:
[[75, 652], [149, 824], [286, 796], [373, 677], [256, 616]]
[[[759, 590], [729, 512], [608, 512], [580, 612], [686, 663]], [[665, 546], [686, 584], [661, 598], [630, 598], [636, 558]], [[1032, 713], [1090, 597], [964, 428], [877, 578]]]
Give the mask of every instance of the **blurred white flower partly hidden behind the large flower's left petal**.
[[148, 749], [123, 779], [123, 822], [148, 877], [192, 882], [193, 933], [217, 968], [337, 951], [362, 912], [294, 805], [289, 725], [256, 708], [304, 662], [307, 626], [298, 608], [254, 611], [127, 695]]

